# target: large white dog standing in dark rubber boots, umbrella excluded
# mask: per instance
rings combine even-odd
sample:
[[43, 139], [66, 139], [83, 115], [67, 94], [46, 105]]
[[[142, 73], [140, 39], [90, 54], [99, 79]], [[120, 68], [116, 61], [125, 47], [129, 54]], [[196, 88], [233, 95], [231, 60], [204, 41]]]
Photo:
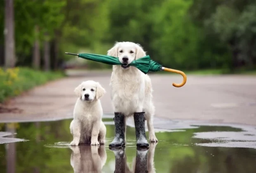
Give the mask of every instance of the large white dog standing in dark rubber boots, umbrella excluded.
[[114, 106], [115, 138], [110, 147], [126, 143], [126, 118], [133, 115], [137, 146], [149, 146], [145, 134], [145, 118], [149, 141], [157, 142], [152, 118], [155, 108], [152, 103], [152, 84], [148, 75], [130, 66], [133, 60], [146, 56], [146, 52], [133, 42], [116, 42], [107, 55], [119, 58], [122, 65], [113, 65], [111, 75], [111, 100]]

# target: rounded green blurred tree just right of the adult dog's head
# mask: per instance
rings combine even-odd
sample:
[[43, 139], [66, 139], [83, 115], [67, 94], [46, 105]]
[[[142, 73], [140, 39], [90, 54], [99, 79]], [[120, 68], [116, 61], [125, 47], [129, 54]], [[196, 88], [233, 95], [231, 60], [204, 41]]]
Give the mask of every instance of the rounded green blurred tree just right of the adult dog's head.
[[191, 2], [166, 0], [152, 13], [155, 35], [151, 48], [155, 52], [154, 58], [166, 66], [185, 69], [199, 67], [200, 30], [187, 16]]

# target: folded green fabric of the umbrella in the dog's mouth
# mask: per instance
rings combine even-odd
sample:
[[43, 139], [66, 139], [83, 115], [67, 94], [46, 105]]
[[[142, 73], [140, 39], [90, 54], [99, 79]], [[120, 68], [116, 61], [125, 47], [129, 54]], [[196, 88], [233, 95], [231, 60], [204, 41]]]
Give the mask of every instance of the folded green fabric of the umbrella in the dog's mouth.
[[[114, 56], [99, 55], [99, 54], [78, 54], [78, 57], [97, 61], [109, 65], [122, 65], [118, 58]], [[131, 66], [138, 68], [143, 73], [147, 74], [149, 71], [160, 71], [162, 65], [150, 59], [149, 55], [136, 59], [130, 63]]]

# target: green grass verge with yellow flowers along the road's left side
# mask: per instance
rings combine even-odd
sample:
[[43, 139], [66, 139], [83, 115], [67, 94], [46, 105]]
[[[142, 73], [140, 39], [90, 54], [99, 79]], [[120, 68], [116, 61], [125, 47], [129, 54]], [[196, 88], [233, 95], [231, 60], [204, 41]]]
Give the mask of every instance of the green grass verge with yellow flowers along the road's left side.
[[0, 68], [0, 103], [7, 98], [18, 96], [34, 86], [64, 77], [62, 72], [43, 72], [31, 68]]

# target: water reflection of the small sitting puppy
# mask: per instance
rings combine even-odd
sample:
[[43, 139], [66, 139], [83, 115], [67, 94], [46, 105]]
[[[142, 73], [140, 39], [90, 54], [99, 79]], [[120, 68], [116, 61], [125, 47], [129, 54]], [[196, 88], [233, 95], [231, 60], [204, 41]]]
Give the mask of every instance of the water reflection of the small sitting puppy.
[[107, 154], [104, 146], [79, 145], [70, 147], [73, 151], [70, 164], [74, 173], [101, 173]]

